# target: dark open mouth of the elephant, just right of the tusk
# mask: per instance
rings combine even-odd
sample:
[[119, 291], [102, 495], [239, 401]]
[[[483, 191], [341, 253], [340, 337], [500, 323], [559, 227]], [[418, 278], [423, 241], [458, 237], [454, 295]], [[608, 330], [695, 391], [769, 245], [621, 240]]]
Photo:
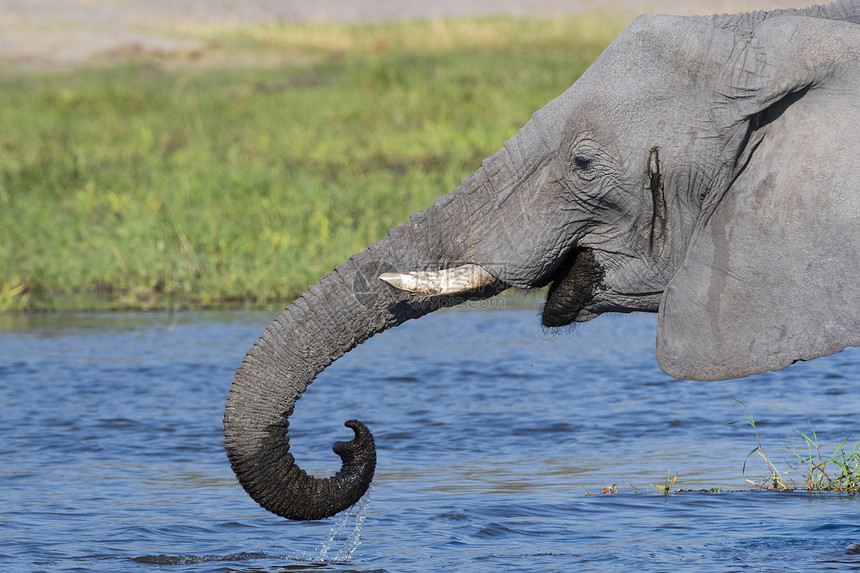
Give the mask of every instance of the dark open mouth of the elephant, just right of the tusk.
[[594, 300], [603, 274], [603, 267], [597, 263], [591, 249], [576, 249], [551, 279], [541, 323], [558, 327], [588, 320], [582, 313]]

